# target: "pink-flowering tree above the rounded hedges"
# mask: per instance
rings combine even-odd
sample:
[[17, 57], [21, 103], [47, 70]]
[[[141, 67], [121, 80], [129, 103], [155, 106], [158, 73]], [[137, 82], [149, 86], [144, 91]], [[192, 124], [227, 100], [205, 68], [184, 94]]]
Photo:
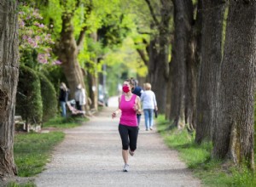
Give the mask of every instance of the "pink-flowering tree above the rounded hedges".
[[[25, 4], [20, 5], [19, 12], [19, 39], [20, 62], [36, 67], [38, 65], [60, 65], [61, 61], [55, 59], [52, 53], [52, 45], [55, 43], [49, 34], [49, 28], [41, 23], [43, 17], [38, 9]], [[29, 60], [32, 59], [32, 60]]]

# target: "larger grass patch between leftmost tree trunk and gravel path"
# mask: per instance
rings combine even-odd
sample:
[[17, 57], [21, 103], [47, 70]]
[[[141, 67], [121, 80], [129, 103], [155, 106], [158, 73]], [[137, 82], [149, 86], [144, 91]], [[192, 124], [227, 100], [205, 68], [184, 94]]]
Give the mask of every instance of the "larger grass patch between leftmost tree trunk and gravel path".
[[31, 177], [44, 170], [54, 146], [65, 133], [22, 133], [15, 135], [15, 163], [20, 177]]

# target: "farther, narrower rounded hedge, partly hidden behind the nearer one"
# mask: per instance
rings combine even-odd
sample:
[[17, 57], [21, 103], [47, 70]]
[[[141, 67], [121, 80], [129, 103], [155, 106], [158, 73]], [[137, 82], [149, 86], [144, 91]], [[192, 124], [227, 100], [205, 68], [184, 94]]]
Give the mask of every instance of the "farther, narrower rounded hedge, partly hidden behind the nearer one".
[[57, 97], [55, 88], [48, 78], [42, 73], [38, 73], [41, 86], [41, 96], [43, 99], [43, 122], [48, 121], [50, 118], [54, 117], [57, 112]]

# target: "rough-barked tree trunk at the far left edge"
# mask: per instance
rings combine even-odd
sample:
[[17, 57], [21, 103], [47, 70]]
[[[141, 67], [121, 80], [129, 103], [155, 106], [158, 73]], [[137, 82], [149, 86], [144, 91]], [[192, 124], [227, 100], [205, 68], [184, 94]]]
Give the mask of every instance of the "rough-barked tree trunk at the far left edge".
[[17, 174], [14, 161], [15, 96], [19, 77], [17, 1], [0, 3], [0, 178]]

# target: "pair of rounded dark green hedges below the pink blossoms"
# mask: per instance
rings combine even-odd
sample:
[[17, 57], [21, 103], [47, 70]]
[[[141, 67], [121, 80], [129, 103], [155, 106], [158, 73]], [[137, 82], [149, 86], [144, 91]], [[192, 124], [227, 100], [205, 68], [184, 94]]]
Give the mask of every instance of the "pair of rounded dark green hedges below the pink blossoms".
[[39, 124], [55, 116], [57, 105], [51, 82], [42, 73], [20, 65], [15, 115], [22, 116], [31, 124]]

